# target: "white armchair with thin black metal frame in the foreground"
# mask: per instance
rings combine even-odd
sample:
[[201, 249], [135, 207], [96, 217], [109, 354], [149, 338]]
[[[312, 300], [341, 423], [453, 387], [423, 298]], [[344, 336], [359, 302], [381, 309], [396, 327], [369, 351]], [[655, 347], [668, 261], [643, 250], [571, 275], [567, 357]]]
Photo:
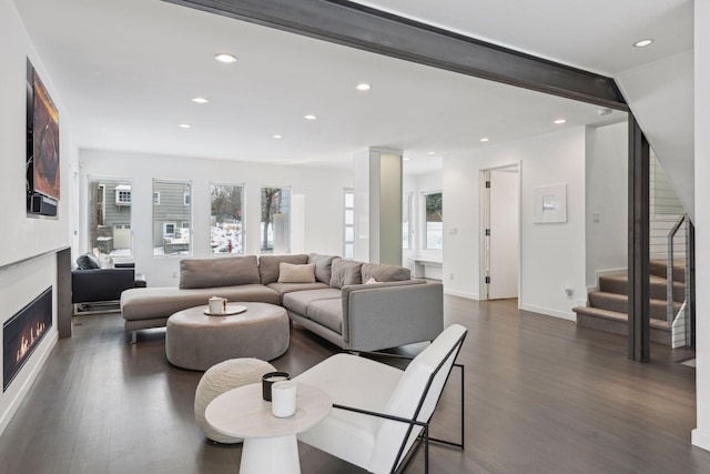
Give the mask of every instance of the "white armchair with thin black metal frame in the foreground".
[[[318, 386], [333, 411], [298, 440], [373, 473], [394, 473], [422, 436], [428, 472], [428, 423], [467, 330], [454, 324], [406, 370], [369, 359], [336, 354], [295, 377]], [[462, 410], [463, 410], [462, 366]], [[462, 412], [463, 413], [463, 412]], [[463, 448], [462, 443], [450, 443]]]

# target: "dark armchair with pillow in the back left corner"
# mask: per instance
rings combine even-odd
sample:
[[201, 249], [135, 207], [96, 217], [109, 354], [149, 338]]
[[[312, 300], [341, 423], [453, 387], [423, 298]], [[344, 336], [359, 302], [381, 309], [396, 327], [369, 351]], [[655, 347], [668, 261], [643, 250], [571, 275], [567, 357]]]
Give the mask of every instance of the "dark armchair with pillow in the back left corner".
[[144, 286], [145, 276], [135, 273], [133, 263], [102, 268], [93, 253], [84, 253], [77, 259], [77, 269], [71, 271], [71, 302], [74, 305], [74, 314], [84, 312], [91, 303], [99, 305], [116, 302], [121, 300], [124, 290]]

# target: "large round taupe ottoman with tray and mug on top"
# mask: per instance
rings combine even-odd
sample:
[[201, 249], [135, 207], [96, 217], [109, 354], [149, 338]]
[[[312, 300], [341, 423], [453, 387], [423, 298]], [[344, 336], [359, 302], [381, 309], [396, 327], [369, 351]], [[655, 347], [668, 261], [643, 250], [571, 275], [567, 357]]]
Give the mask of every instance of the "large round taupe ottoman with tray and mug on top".
[[171, 364], [205, 371], [227, 359], [271, 361], [288, 349], [288, 315], [267, 303], [230, 303], [246, 311], [210, 316], [204, 306], [180, 311], [168, 319], [165, 355]]

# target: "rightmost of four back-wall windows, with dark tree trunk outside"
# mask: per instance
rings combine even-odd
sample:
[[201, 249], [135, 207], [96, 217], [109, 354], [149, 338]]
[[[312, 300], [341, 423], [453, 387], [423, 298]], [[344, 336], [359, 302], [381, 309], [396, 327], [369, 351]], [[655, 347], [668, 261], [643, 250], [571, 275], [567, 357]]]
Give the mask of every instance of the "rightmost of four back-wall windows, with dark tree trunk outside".
[[262, 188], [262, 253], [291, 250], [291, 188]]

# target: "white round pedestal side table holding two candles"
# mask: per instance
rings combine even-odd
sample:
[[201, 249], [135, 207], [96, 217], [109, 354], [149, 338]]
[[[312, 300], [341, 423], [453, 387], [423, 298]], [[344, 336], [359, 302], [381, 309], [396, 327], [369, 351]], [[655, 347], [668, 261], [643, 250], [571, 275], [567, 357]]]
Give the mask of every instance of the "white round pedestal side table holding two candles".
[[271, 413], [271, 402], [262, 399], [262, 384], [256, 383], [214, 399], [205, 418], [215, 431], [244, 438], [240, 474], [297, 474], [296, 434], [316, 425], [332, 407], [331, 397], [321, 389], [298, 383], [296, 413], [278, 418]]

